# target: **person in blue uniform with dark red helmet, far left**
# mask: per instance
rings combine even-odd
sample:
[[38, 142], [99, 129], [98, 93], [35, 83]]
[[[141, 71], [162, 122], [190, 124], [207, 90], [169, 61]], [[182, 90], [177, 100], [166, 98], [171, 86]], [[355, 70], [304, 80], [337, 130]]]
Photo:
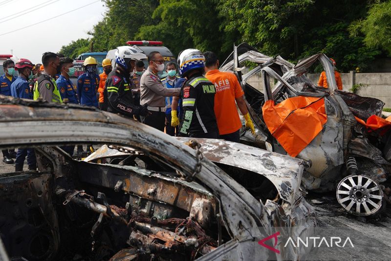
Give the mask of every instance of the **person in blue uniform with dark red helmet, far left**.
[[[34, 65], [27, 59], [20, 59], [15, 69], [19, 71], [19, 77], [11, 84], [11, 95], [16, 98], [33, 99], [28, 77], [32, 74]], [[22, 171], [24, 159], [27, 156], [28, 169], [37, 170], [37, 159], [33, 148], [20, 148], [16, 154], [15, 171]]]

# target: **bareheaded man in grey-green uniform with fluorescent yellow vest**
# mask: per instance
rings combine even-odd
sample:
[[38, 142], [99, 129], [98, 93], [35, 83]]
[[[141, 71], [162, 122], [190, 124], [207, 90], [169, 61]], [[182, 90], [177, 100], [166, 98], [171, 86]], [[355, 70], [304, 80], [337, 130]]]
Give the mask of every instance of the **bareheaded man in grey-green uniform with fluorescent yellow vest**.
[[34, 83], [34, 100], [42, 98], [51, 102], [63, 102], [54, 77], [60, 73], [60, 58], [54, 52], [42, 55], [43, 72]]

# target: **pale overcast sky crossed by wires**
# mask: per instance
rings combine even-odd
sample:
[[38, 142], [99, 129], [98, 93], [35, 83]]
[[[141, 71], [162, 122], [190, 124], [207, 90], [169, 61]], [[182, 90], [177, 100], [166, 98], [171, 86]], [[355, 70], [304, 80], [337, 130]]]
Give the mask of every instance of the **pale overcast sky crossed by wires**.
[[[96, 0], [0, 0], [0, 35], [94, 1]], [[39, 9], [27, 13], [36, 8]], [[63, 45], [72, 40], [87, 38], [87, 31], [103, 19], [105, 11], [104, 3], [98, 1], [41, 24], [1, 35], [0, 54], [11, 54], [13, 49], [16, 58], [26, 58], [34, 64], [41, 63], [45, 51], [58, 52]], [[15, 13], [19, 13], [18, 16], [12, 16]], [[12, 19], [14, 17], [17, 18]]]

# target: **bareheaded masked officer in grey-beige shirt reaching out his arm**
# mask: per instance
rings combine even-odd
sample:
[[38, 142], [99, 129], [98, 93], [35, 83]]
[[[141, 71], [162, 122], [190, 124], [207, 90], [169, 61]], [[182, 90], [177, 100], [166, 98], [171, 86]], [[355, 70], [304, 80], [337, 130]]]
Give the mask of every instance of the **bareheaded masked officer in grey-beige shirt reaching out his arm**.
[[164, 131], [166, 121], [165, 96], [178, 96], [180, 89], [164, 87], [159, 79], [157, 72], [164, 70], [163, 56], [159, 52], [151, 52], [148, 55], [148, 63], [148, 69], [143, 73], [140, 80], [140, 104], [143, 106], [148, 105], [151, 115], [142, 117], [141, 121], [160, 131]]

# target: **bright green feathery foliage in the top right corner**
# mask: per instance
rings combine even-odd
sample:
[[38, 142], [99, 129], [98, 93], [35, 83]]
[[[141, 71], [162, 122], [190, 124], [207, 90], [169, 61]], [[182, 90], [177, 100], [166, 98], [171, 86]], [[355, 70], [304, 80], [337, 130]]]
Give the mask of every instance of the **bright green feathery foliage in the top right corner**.
[[349, 31], [352, 38], [364, 34], [367, 47], [380, 47], [391, 55], [391, 0], [370, 5], [367, 17], [350, 24]]

